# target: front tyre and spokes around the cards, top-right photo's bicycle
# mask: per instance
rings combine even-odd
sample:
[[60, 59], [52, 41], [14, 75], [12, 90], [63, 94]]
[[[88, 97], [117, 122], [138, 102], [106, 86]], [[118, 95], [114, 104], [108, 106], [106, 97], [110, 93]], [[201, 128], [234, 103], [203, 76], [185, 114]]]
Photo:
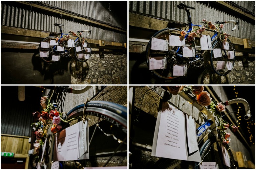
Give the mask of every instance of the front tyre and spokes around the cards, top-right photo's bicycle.
[[[227, 39], [226, 42], [229, 44], [229, 50], [222, 49], [223, 45], [222, 45], [222, 41], [220, 39], [217, 39], [213, 43], [213, 46], [212, 46], [213, 50], [214, 49], [221, 49], [221, 54], [223, 55], [222, 57], [215, 58], [213, 50], [211, 50], [211, 65], [212, 65], [212, 68], [213, 68], [214, 72], [216, 74], [220, 75], [220, 76], [225, 76], [231, 71], [231, 70], [227, 69], [227, 62], [232, 62], [232, 68], [235, 64], [235, 49], [234, 49], [234, 46], [233, 46], [232, 42], [229, 39]], [[233, 51], [233, 53], [234, 53], [233, 58], [228, 59], [228, 51]], [[224, 61], [224, 69], [217, 70], [218, 61]]]

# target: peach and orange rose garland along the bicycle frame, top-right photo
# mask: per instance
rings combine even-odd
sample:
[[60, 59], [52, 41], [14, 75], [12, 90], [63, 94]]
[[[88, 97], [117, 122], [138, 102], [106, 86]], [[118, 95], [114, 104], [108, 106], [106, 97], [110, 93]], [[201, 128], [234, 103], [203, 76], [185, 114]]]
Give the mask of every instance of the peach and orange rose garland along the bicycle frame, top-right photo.
[[194, 27], [193, 30], [189, 33], [187, 33], [186, 31], [182, 30], [181, 31], [181, 36], [184, 37], [185, 35], [188, 34], [187, 38], [185, 39], [186, 43], [190, 45], [190, 47], [195, 47], [196, 43], [194, 41], [194, 38], [197, 37], [198, 35], [200, 36], [202, 34], [202, 32], [205, 29], [211, 29], [211, 30], [216, 30], [218, 29], [220, 32], [220, 39], [221, 41], [227, 41], [228, 36], [230, 36], [227, 33], [223, 33], [222, 28], [224, 27], [223, 24], [212, 24], [211, 22], [206, 21], [205, 19], [203, 19], [203, 26], [201, 27]]

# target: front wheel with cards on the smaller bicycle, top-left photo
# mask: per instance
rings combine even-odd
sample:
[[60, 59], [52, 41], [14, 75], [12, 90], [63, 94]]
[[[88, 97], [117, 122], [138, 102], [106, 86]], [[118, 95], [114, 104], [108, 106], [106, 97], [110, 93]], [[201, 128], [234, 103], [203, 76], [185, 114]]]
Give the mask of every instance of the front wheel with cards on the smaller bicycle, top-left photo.
[[75, 44], [75, 57], [78, 61], [85, 62], [87, 61], [92, 54], [91, 45], [89, 42], [85, 41], [84, 44], [82, 44], [80, 41], [78, 41]]

